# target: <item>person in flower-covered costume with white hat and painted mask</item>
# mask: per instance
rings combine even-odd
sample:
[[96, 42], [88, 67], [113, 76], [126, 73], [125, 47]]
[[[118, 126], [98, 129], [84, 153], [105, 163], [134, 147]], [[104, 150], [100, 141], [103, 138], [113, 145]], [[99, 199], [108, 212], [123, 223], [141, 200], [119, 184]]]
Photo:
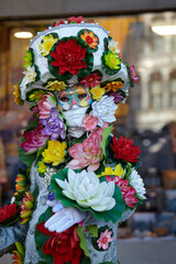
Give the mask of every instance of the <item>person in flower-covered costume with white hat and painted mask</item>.
[[139, 147], [112, 134], [118, 103], [138, 80], [117, 44], [81, 16], [31, 42], [15, 92], [35, 116], [19, 153], [29, 167], [0, 217], [0, 250], [16, 242], [18, 263], [118, 264], [118, 224], [145, 188]]

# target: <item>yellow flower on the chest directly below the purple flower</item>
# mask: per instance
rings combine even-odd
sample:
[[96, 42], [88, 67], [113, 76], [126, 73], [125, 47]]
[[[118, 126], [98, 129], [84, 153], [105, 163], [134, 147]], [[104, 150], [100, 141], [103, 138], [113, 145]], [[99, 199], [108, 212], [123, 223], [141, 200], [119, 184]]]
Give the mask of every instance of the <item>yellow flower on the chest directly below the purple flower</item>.
[[42, 153], [42, 156], [44, 157], [43, 161], [45, 163], [52, 163], [53, 166], [57, 166], [64, 162], [66, 147], [67, 144], [65, 142], [48, 141], [47, 148]]

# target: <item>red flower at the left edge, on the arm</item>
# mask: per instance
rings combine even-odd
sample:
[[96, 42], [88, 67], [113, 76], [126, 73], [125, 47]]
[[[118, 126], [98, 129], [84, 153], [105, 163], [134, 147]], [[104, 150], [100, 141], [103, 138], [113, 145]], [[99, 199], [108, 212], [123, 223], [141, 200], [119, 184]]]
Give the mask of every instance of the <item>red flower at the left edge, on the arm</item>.
[[12, 205], [0, 208], [0, 224], [8, 223], [14, 218], [19, 212], [19, 207], [13, 202]]

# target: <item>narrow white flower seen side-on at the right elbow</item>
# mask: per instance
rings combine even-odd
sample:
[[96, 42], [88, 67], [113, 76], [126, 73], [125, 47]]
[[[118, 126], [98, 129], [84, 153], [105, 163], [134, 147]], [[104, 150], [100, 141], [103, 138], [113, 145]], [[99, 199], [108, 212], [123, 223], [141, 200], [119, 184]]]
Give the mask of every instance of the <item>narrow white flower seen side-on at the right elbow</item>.
[[142, 199], [146, 199], [144, 196], [146, 193], [144, 182], [135, 169], [133, 169], [130, 175], [130, 185], [134, 187], [138, 196], [140, 196]]

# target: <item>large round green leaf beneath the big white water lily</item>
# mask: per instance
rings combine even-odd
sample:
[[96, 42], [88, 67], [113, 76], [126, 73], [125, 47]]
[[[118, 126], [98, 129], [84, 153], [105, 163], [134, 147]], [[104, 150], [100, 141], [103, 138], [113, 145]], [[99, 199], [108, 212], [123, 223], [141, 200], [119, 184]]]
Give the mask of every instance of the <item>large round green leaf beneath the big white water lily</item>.
[[[75, 200], [70, 200], [63, 195], [62, 188], [56, 183], [56, 178], [64, 182], [65, 179], [67, 179], [67, 172], [68, 168], [64, 168], [59, 170], [57, 174], [53, 175], [50, 188], [51, 191], [54, 190], [55, 198], [61, 200], [65, 207], [76, 207], [80, 211], [91, 211], [97, 220], [103, 219], [106, 222], [109, 221], [117, 222], [121, 218], [123, 211], [125, 210], [125, 205], [123, 201], [122, 193], [117, 185], [114, 186], [113, 195], [113, 198], [116, 199], [116, 206], [109, 211], [97, 212], [92, 210], [90, 207], [89, 208], [80, 207]], [[75, 169], [75, 172], [78, 173], [80, 172], [80, 169]], [[114, 175], [112, 175], [112, 177], [114, 177]], [[100, 183], [107, 182], [106, 176], [101, 176], [99, 180]]]

